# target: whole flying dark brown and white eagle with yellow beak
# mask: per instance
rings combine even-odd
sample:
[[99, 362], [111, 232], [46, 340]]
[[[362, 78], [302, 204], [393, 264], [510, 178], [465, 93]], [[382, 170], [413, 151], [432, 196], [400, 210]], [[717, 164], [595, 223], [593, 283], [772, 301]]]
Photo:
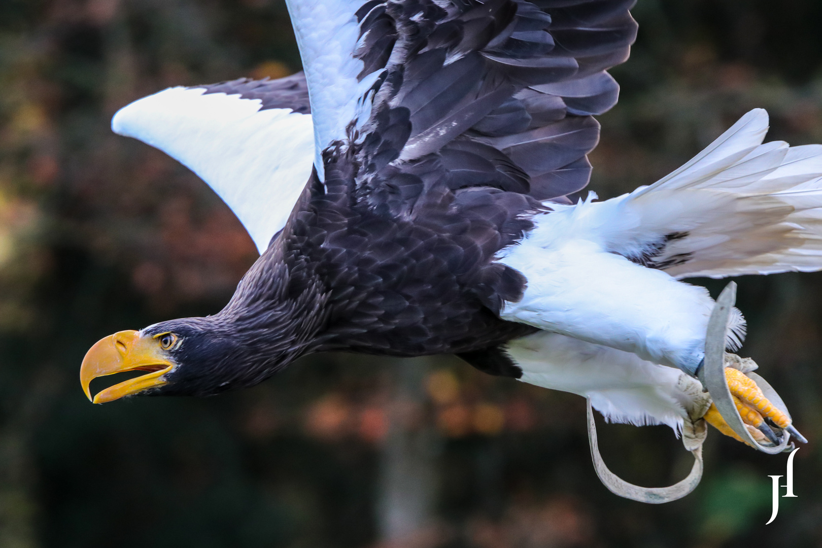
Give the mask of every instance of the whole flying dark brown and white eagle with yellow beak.
[[[741, 439], [700, 384], [715, 303], [681, 280], [822, 269], [822, 145], [763, 143], [755, 109], [659, 181], [582, 198], [634, 0], [286, 3], [304, 72], [173, 87], [113, 117], [208, 183], [260, 257], [214, 315], [90, 348], [90, 400], [243, 389], [313, 352], [454, 354], [609, 421], [704, 417]], [[733, 351], [745, 320], [728, 314]], [[92, 397], [122, 371], [145, 373]], [[756, 440], [804, 440], [755, 380], [726, 376]]]

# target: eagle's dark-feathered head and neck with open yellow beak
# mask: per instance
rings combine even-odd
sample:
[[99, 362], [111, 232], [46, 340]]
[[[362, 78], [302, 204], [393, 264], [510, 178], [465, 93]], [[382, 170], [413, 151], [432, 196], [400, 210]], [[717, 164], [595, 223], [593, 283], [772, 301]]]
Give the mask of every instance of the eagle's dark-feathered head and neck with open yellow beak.
[[[119, 331], [89, 349], [80, 368], [85, 395], [106, 403], [132, 394], [210, 396], [266, 380], [316, 350], [327, 295], [310, 269], [289, 265], [270, 247], [222, 311], [140, 331]], [[292, 274], [295, 270], [297, 274]], [[145, 372], [91, 397], [97, 377]]]

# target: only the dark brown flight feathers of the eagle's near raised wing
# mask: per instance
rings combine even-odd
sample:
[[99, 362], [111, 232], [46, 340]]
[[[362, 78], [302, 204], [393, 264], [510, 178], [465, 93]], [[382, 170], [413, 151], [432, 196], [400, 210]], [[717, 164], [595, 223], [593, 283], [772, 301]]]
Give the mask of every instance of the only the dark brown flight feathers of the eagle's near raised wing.
[[[403, 10], [392, 11], [399, 3]], [[374, 112], [407, 108], [412, 127], [406, 143], [392, 143], [391, 165], [402, 170], [402, 163], [428, 162], [451, 142], [476, 140], [525, 174], [524, 194], [550, 200], [579, 191], [590, 175], [585, 156], [598, 142], [591, 116], [611, 108], [619, 92], [604, 69], [624, 60], [635, 38], [631, 3], [386, 2], [380, 13], [394, 17], [397, 39]], [[405, 13], [428, 15], [404, 19]], [[555, 15], [562, 21], [556, 28]], [[363, 140], [363, 165], [374, 165], [367, 160], [372, 150], [386, 150], [378, 145], [383, 119], [374, 116], [363, 127], [376, 136]], [[374, 191], [384, 184], [376, 172], [360, 177]]]

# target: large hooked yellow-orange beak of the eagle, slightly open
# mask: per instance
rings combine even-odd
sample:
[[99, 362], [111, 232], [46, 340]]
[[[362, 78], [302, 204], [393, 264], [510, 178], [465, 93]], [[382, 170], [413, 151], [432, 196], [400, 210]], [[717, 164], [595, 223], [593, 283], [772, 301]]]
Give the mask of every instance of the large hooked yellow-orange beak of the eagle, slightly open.
[[[85, 352], [80, 366], [80, 384], [85, 397], [92, 403], [112, 402], [129, 394], [166, 384], [163, 375], [172, 370], [174, 364], [164, 355], [159, 341], [153, 337], [141, 337], [139, 331], [120, 331], [101, 338]], [[113, 375], [123, 371], [150, 371], [134, 379], [110, 386], [91, 398], [89, 385], [97, 377]]]

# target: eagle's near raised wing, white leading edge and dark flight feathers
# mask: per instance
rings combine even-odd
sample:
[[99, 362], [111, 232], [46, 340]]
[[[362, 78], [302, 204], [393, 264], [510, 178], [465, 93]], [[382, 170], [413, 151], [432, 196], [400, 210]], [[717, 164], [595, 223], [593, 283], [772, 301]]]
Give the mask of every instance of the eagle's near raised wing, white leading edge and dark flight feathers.
[[617, 101], [605, 70], [628, 56], [633, 0], [288, 3], [317, 153], [353, 150], [374, 205], [413, 208], [420, 174], [397, 173], [435, 164], [452, 191], [561, 200], [588, 183], [592, 115]]

